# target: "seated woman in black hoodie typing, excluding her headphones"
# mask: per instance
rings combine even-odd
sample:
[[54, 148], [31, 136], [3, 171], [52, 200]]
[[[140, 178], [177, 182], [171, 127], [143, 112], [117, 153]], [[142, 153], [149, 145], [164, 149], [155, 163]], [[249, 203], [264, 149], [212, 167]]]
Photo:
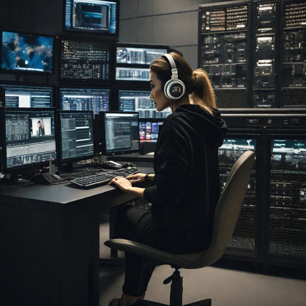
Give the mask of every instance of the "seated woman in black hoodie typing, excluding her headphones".
[[[159, 58], [150, 65], [150, 98], [158, 111], [171, 107], [162, 125], [155, 155], [155, 174], [115, 177], [109, 184], [152, 203], [151, 212], [124, 205], [118, 211], [114, 238], [139, 241], [171, 253], [199, 252], [211, 240], [212, 221], [220, 196], [218, 147], [227, 127], [215, 108], [211, 81], [202, 69], [192, 71], [179, 54], [174, 59], [185, 94], [166, 97], [170, 62]], [[155, 186], [134, 187], [150, 180]], [[143, 299], [154, 267], [125, 252], [125, 282], [119, 305], [137, 305]], [[112, 302], [110, 305], [113, 305]]]

